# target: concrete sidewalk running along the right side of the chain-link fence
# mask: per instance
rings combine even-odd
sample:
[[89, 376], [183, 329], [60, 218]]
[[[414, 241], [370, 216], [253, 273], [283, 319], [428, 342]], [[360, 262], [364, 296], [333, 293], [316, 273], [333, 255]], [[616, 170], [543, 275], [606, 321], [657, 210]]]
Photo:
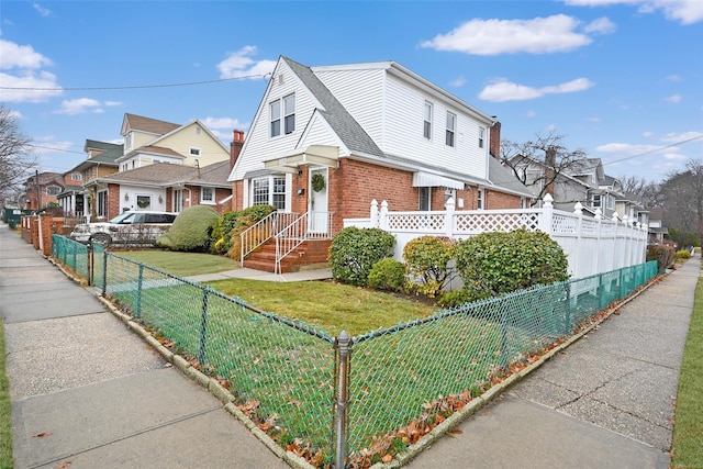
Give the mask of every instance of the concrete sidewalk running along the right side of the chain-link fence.
[[692, 258], [436, 440], [410, 468], [668, 468]]

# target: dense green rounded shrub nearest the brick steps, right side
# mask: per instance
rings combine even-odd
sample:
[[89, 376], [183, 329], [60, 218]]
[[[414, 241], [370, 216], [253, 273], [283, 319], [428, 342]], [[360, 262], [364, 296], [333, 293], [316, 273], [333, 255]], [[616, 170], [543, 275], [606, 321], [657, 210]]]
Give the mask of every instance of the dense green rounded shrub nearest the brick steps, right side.
[[393, 255], [394, 244], [393, 235], [380, 228], [342, 230], [327, 254], [332, 277], [343, 283], [365, 287], [373, 265]]

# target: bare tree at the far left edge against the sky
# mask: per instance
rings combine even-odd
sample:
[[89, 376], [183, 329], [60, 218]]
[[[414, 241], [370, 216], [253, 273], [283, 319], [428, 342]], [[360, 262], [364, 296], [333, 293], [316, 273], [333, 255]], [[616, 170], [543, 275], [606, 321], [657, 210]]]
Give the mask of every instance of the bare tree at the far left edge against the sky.
[[15, 200], [36, 167], [31, 141], [20, 131], [18, 114], [0, 103], [0, 202]]

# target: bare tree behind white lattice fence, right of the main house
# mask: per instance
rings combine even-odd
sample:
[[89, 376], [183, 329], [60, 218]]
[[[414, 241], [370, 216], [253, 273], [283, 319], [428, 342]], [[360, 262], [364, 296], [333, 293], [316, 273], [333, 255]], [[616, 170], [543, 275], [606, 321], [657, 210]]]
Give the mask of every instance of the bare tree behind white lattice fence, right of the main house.
[[[569, 149], [563, 139], [563, 135], [551, 131], [548, 134], [537, 133], [535, 139], [525, 143], [502, 141], [501, 161], [522, 183], [536, 189], [537, 199], [542, 200], [548, 192], [554, 192], [561, 175], [572, 172], [587, 159], [583, 149]], [[526, 168], [534, 163], [539, 164], [543, 170], [529, 175]]]

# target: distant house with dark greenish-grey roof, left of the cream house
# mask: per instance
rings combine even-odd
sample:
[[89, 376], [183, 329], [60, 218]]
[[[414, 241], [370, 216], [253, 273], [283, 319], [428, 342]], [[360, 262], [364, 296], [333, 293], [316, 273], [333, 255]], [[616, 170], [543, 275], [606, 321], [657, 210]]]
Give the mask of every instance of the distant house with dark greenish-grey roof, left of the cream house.
[[58, 204], [64, 209], [64, 213], [74, 216], [85, 216], [86, 206], [86, 186], [101, 176], [108, 176], [118, 171], [115, 160], [123, 155], [123, 146], [87, 139], [83, 152], [88, 155], [85, 161], [74, 167], [71, 180], [78, 186], [71, 186], [58, 194]]

